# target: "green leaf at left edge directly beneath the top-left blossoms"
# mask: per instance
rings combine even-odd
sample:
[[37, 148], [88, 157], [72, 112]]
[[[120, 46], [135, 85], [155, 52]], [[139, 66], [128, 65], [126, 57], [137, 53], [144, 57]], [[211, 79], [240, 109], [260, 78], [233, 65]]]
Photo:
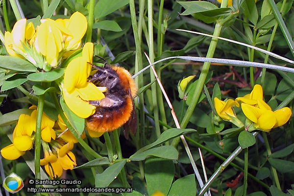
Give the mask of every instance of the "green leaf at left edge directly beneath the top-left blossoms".
[[25, 59], [15, 56], [1, 56], [0, 68], [21, 72], [36, 72], [37, 68]]

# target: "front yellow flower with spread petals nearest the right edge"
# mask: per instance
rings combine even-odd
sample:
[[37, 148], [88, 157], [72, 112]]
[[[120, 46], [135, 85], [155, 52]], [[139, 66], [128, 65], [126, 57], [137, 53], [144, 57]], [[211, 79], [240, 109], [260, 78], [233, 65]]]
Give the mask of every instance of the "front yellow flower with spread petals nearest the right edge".
[[288, 122], [292, 115], [289, 107], [272, 111], [263, 100], [258, 100], [257, 107], [242, 103], [241, 108], [245, 116], [254, 123], [254, 128], [269, 132], [272, 128], [282, 126]]

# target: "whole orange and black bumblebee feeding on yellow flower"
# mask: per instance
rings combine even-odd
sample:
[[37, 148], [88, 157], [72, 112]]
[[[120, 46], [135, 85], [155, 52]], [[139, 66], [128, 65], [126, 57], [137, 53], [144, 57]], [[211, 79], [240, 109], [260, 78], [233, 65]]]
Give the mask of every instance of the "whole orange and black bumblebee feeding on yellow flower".
[[89, 101], [96, 106], [95, 113], [88, 117], [88, 130], [106, 132], [124, 125], [124, 136], [129, 131], [135, 134], [137, 118], [133, 98], [137, 94], [137, 86], [131, 74], [122, 67], [104, 64], [103, 67], [93, 65], [97, 72], [89, 81], [98, 87], [106, 87], [105, 98]]

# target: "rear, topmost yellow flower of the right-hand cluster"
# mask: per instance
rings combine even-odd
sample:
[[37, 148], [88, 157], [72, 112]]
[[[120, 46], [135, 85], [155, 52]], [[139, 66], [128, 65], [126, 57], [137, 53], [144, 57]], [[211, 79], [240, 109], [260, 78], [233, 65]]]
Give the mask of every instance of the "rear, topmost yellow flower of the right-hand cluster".
[[263, 100], [263, 89], [259, 84], [254, 85], [253, 90], [250, 94], [245, 95], [244, 97], [236, 98], [236, 101], [242, 101], [249, 105], [256, 105], [257, 100]]

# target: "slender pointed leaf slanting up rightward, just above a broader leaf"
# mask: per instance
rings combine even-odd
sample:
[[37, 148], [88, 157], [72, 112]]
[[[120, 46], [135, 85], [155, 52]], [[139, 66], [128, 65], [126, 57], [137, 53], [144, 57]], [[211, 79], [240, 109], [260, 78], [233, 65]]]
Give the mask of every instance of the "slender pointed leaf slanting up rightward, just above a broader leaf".
[[176, 138], [180, 135], [195, 132], [195, 131], [196, 131], [195, 129], [177, 129], [177, 128], [171, 128], [171, 129], [165, 130], [155, 142], [153, 142], [145, 147], [142, 147], [136, 153], [134, 153], [132, 156], [135, 156], [135, 154], [143, 152], [149, 148], [161, 145], [161, 144], [163, 144], [173, 138]]

